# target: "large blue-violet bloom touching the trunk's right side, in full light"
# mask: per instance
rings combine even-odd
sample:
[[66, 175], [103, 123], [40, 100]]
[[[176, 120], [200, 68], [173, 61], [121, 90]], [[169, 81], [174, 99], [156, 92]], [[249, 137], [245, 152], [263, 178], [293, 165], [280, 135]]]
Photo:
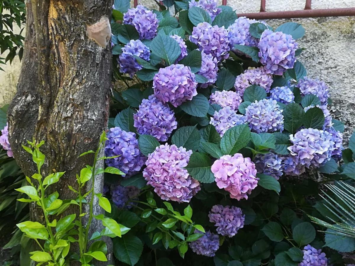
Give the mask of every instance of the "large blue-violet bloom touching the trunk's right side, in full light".
[[119, 127], [110, 128], [105, 143], [105, 155], [119, 157], [106, 159], [106, 164], [116, 167], [125, 173], [126, 177], [140, 171], [147, 160], [138, 148], [136, 134], [126, 132]]

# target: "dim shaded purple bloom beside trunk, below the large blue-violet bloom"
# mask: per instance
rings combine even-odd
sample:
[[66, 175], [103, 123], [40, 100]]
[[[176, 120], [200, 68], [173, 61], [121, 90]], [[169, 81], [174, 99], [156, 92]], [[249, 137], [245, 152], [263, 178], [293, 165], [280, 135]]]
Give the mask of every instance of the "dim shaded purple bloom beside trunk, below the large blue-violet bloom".
[[111, 196], [113, 203], [119, 208], [131, 209], [132, 203], [127, 202], [129, 200], [135, 200], [138, 198], [140, 189], [129, 186], [123, 187], [121, 185], [111, 186]]

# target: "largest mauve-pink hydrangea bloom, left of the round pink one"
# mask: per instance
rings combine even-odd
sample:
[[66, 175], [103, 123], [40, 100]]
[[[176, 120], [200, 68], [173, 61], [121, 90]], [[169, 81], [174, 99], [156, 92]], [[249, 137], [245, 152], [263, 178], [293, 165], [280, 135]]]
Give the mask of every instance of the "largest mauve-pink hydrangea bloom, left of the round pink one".
[[187, 170], [192, 151], [176, 145], [160, 145], [149, 154], [143, 177], [162, 200], [190, 202], [201, 188]]

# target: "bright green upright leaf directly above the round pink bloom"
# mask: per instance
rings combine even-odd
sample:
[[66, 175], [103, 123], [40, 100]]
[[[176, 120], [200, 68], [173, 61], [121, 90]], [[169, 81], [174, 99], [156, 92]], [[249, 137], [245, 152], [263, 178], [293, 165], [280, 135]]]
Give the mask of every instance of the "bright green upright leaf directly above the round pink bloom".
[[241, 124], [228, 129], [221, 140], [220, 147], [224, 154], [234, 155], [244, 148], [251, 140], [251, 133], [247, 124]]

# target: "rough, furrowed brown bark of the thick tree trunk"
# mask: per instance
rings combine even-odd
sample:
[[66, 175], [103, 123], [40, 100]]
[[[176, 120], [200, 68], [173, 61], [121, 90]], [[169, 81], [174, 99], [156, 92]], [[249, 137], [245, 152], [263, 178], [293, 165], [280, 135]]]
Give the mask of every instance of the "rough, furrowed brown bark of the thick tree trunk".
[[[111, 50], [89, 39], [87, 26], [110, 19], [111, 9], [111, 0], [26, 0], [23, 63], [8, 111], [10, 144], [18, 165], [31, 176], [34, 164], [21, 144], [45, 140], [43, 174], [66, 171], [55, 187], [60, 199], [75, 198], [67, 186], [77, 184], [76, 173], [93, 163], [92, 156], [78, 155], [95, 150], [107, 127]], [[96, 193], [102, 192], [103, 177], [95, 182]], [[31, 219], [42, 220], [34, 206]], [[95, 231], [100, 226], [92, 225]]]

